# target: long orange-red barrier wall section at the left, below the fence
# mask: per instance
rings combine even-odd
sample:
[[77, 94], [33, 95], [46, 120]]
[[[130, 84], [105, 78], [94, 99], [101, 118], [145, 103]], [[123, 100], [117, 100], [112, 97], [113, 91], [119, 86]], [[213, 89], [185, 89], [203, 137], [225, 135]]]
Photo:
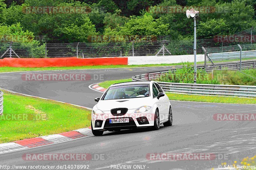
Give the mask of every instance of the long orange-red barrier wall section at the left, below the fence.
[[0, 67], [70, 67], [86, 65], [127, 65], [127, 57], [103, 58], [4, 58]]

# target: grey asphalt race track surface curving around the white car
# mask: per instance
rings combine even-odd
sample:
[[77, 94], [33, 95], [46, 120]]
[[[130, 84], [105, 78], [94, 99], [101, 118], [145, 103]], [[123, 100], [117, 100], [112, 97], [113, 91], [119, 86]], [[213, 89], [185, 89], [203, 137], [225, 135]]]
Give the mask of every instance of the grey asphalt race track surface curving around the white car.
[[[64, 101], [85, 107], [96, 104], [102, 93], [88, 88], [104, 80], [131, 78], [132, 75], [167, 70], [170, 67], [132, 69], [93, 69], [33, 71], [0, 74], [0, 87], [15, 92]], [[24, 81], [26, 73], [86, 73], [102, 75], [104, 80]], [[214, 114], [255, 113], [256, 105], [217, 104], [171, 101], [173, 126], [157, 131], [150, 129], [107, 132], [101, 137], [89, 136], [72, 141], [0, 154], [0, 165], [89, 165], [90, 169], [114, 169], [111, 165], [145, 166], [145, 169], [211, 169], [222, 162], [233, 164], [256, 154], [255, 121], [215, 121]], [[25, 161], [24, 153], [90, 153], [104, 154], [105, 160]], [[148, 160], [147, 153], [212, 153], [213, 160]], [[121, 168], [124, 169], [124, 168]]]

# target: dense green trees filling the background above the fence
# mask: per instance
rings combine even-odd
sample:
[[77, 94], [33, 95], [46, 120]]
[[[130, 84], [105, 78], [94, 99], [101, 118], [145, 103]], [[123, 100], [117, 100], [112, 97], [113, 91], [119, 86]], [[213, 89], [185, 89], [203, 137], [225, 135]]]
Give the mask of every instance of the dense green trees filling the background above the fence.
[[[88, 10], [75, 13], [26, 10], [45, 6], [86, 7]], [[178, 12], [164, 12], [163, 7], [166, 6], [185, 7]], [[256, 26], [254, 0], [0, 0], [0, 35], [28, 34], [30, 46], [38, 48], [32, 51], [40, 55], [43, 52], [38, 52], [39, 48], [43, 48], [45, 42], [91, 42], [90, 37], [95, 35], [164, 36], [172, 42], [182, 41], [182, 46], [186, 47], [193, 40], [193, 19], [185, 15], [186, 9], [191, 7], [200, 13], [197, 39], [233, 35]], [[204, 12], [205, 7], [211, 7], [213, 11]], [[17, 32], [6, 32], [13, 26]], [[36, 37], [44, 38], [36, 40]], [[25, 44], [28, 42], [24, 41], [22, 46]], [[186, 54], [179, 50], [180, 45], [170, 43], [171, 53]]]

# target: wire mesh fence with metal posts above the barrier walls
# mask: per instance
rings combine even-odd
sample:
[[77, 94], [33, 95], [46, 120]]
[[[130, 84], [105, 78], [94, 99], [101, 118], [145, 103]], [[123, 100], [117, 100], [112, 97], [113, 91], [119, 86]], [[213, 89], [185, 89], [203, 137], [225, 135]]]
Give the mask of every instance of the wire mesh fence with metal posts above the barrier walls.
[[[194, 40], [177, 41], [126, 41], [126, 42], [77, 42], [29, 44], [20, 42], [0, 43], [0, 59], [5, 57], [53, 58], [53, 57], [119, 57], [152, 55], [192, 55]], [[197, 54], [239, 51], [239, 47], [216, 39], [197, 40]], [[241, 45], [243, 50], [255, 50], [256, 44]]]

